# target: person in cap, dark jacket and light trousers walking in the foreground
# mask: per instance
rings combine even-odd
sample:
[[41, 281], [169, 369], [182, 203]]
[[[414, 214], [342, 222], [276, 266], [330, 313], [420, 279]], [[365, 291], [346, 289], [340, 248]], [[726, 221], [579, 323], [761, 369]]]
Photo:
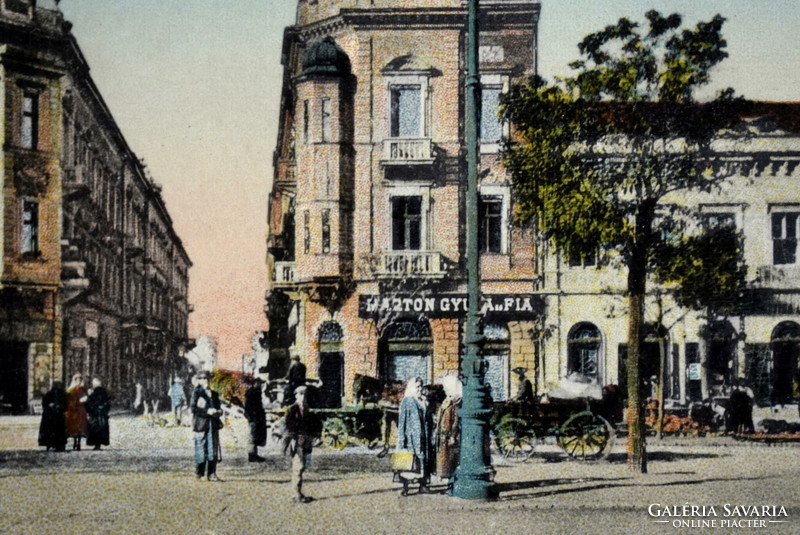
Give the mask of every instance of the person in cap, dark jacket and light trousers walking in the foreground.
[[307, 387], [298, 386], [293, 394], [295, 401], [286, 413], [283, 452], [292, 458], [294, 501], [308, 503], [314, 498], [303, 494], [303, 474], [308, 465], [314, 440], [322, 433], [322, 424], [317, 415], [308, 407]]

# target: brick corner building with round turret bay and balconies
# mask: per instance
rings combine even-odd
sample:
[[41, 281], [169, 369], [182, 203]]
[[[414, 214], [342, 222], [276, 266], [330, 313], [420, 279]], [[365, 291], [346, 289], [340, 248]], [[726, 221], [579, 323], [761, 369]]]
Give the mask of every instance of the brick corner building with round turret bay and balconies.
[[[499, 95], [536, 69], [539, 3], [481, 2], [481, 277], [495, 399], [536, 367], [530, 229], [510, 224]], [[438, 382], [466, 313], [461, 0], [300, 0], [286, 29], [269, 199], [269, 371], [297, 354], [326, 406], [356, 374]]]

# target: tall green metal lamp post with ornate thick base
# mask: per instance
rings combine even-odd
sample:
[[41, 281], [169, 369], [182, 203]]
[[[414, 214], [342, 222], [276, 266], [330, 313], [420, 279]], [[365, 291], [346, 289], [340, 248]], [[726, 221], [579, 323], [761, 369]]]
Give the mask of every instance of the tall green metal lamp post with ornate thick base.
[[478, 252], [478, 158], [480, 132], [480, 75], [478, 74], [478, 0], [469, 0], [467, 22], [467, 322], [465, 354], [461, 360], [464, 391], [461, 421], [460, 464], [455, 474], [453, 495], [485, 500], [490, 497], [493, 473], [489, 454], [489, 400], [485, 384], [485, 363], [481, 356], [483, 335], [480, 325], [480, 257]]

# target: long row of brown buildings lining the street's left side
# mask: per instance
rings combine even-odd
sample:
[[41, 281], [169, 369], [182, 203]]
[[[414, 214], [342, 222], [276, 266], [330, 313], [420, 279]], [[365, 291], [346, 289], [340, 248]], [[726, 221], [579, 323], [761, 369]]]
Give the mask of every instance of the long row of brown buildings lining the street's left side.
[[[191, 261], [54, 0], [0, 2], [2, 396], [100, 377], [165, 389], [188, 340]], [[8, 371], [8, 373], [5, 373]]]

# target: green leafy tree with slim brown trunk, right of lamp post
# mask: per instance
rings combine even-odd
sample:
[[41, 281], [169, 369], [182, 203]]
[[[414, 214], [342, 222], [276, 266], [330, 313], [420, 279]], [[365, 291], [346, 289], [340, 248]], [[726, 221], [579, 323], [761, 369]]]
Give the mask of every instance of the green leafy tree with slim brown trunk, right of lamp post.
[[[714, 295], [690, 291], [699, 280], [732, 285], [726, 295], [741, 283], [741, 270], [731, 273], [720, 257], [690, 256], [709, 238], [693, 235], [686, 214], [665, 199], [721, 185], [726, 175], [711, 141], [736, 123], [744, 106], [731, 89], [704, 103], [694, 98], [727, 57], [721, 16], [693, 29], [679, 29], [677, 14], [649, 11], [645, 17], [644, 27], [622, 18], [587, 35], [578, 45], [582, 59], [571, 64], [574, 76], [517, 85], [502, 107], [514, 125], [504, 161], [517, 222], [535, 222], [560, 251], [591, 255], [600, 249], [627, 270], [628, 464], [642, 472], [639, 367], [648, 273], [685, 288], [677, 295], [693, 306], [716, 306]], [[723, 256], [735, 256], [738, 242], [726, 243], [733, 251]]]

